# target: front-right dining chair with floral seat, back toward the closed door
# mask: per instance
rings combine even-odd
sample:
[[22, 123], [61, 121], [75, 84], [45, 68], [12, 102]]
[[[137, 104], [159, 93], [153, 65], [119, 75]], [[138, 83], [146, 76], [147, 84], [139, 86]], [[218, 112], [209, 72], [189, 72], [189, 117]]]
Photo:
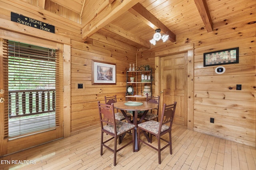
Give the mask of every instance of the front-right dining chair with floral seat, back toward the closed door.
[[[144, 143], [145, 145], [148, 145], [149, 147], [155, 149], [158, 151], [158, 163], [161, 164], [161, 151], [170, 147], [170, 154], [172, 154], [172, 122], [174, 118], [174, 113], [176, 109], [177, 102], [174, 102], [174, 104], [166, 105], [164, 104], [162, 114], [161, 114], [161, 120], [160, 122], [150, 120], [145, 121], [143, 123], [138, 124], [138, 150], [140, 150], [140, 142]], [[148, 141], [144, 141], [140, 139], [141, 132], [148, 132], [150, 134], [150, 143], [152, 144], [152, 135], [157, 138], [158, 147], [154, 147], [153, 145], [149, 144]], [[169, 141], [168, 139], [163, 139], [162, 135], [169, 133]], [[164, 147], [161, 148], [160, 142], [164, 141], [167, 144], [164, 145]]]

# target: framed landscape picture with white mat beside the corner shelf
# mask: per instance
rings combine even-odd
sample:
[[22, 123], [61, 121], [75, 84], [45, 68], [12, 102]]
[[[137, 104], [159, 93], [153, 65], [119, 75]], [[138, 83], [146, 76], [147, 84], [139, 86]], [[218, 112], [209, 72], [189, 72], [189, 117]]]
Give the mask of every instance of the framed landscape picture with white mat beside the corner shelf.
[[116, 64], [92, 61], [92, 84], [116, 84]]

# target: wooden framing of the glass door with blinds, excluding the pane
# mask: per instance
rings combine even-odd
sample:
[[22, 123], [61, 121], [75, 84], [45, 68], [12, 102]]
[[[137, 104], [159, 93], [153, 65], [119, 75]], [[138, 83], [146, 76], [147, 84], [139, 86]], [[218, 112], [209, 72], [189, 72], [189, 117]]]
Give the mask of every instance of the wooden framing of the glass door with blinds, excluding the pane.
[[[20, 35], [22, 36], [22, 35]], [[30, 37], [30, 39], [33, 39]], [[43, 40], [42, 40], [43, 41]], [[42, 43], [40, 41], [40, 43]], [[49, 42], [49, 41], [47, 41]], [[46, 43], [45, 43], [46, 44]], [[58, 45], [58, 44], [56, 44]], [[60, 47], [58, 47], [60, 46]], [[56, 46], [56, 49], [60, 49], [62, 54], [62, 46], [58, 45]], [[29, 133], [24, 133], [22, 135], [17, 135], [14, 137], [9, 136], [8, 130], [10, 129], [10, 122], [8, 121], [8, 115], [9, 115], [9, 109], [8, 109], [8, 79], [4, 79], [4, 75], [6, 74], [6, 70], [8, 70], [8, 64], [4, 63], [4, 57], [3, 57], [3, 39], [0, 39], [0, 156], [10, 154], [13, 152], [17, 152], [20, 150], [24, 150], [30, 147], [34, 147], [37, 145], [41, 145], [43, 143], [47, 143], [49, 141], [54, 141], [56, 139], [63, 138], [63, 93], [62, 90], [59, 90], [59, 97], [58, 97], [58, 105], [56, 104], [56, 111], [58, 111], [60, 114], [58, 114], [58, 117], [55, 118], [56, 123], [55, 126], [52, 126], [50, 128], [41, 129], [38, 131], [33, 131]], [[62, 56], [62, 55], [61, 55]], [[62, 61], [62, 57], [60, 57], [60, 61]], [[62, 67], [60, 68], [60, 71], [63, 72]], [[7, 73], [8, 74], [8, 73]], [[61, 77], [62, 78], [62, 77]], [[7, 81], [7, 82], [6, 82]], [[6, 85], [7, 84], [7, 85]], [[63, 82], [60, 82], [60, 85], [58, 86], [59, 89], [63, 87]], [[2, 91], [2, 89], [4, 91]], [[2, 102], [1, 98], [5, 98], [5, 101]], [[55, 98], [54, 98], [55, 99]], [[56, 98], [57, 99], [57, 98]], [[57, 102], [56, 102], [57, 103]], [[56, 115], [56, 114], [55, 114]], [[41, 119], [40, 119], [41, 121]], [[31, 123], [30, 123], [31, 125]], [[28, 127], [30, 126], [28, 125]], [[7, 130], [6, 130], [7, 129]]]

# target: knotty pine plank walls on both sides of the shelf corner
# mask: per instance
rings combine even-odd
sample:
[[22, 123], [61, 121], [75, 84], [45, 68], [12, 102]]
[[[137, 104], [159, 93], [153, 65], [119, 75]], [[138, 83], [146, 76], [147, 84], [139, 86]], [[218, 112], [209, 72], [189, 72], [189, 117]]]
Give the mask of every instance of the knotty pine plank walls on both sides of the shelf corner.
[[[0, 1], [0, 18], [4, 20], [10, 20], [11, 11], [41, 20], [42, 16], [37, 12], [41, 10], [25, 2], [17, 4], [10, 1], [3, 4]], [[155, 48], [138, 51], [136, 61], [136, 49], [133, 47], [107, 39], [99, 33], [84, 43], [79, 21], [55, 17], [45, 10], [43, 12], [46, 18], [44, 22], [52, 23], [57, 35], [71, 39], [72, 134], [99, 125], [96, 101], [104, 102], [104, 96], [113, 94], [117, 94], [118, 100], [125, 100], [126, 68], [129, 63], [137, 63], [138, 66], [149, 64], [154, 68], [156, 53], [194, 44], [194, 111], [188, 113], [194, 114], [194, 130], [255, 146], [256, 23], [253, 21], [256, 14], [214, 25], [214, 31], [210, 33], [199, 29], [177, 35], [176, 43], [161, 45], [158, 42]], [[25, 26], [20, 27], [22, 29]], [[203, 53], [232, 47], [240, 49], [239, 64], [225, 65], [224, 74], [215, 74], [216, 66], [203, 66]], [[116, 64], [116, 85], [91, 84], [92, 60]], [[78, 83], [84, 84], [84, 89], [78, 89]], [[237, 91], [236, 84], [242, 84], [242, 90]], [[210, 123], [210, 117], [215, 119], [214, 123]]]

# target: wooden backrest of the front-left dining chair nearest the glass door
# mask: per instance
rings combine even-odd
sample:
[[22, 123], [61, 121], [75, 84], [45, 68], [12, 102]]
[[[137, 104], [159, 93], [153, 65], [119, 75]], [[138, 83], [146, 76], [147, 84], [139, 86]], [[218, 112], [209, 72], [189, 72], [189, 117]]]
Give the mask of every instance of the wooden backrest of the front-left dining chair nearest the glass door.
[[112, 125], [114, 127], [114, 134], [116, 134], [116, 121], [113, 104], [101, 104], [98, 101], [98, 108], [100, 114], [100, 127], [103, 130], [104, 125]]

